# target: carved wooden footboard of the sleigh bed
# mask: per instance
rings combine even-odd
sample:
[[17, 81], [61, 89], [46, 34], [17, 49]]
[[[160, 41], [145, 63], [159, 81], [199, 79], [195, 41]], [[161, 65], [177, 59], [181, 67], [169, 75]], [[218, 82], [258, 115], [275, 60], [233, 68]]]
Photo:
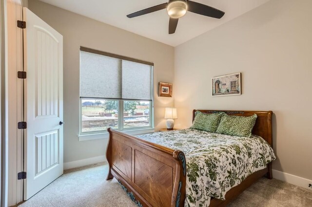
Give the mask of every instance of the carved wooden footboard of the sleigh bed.
[[107, 180], [115, 177], [138, 206], [183, 207], [186, 162], [181, 151], [111, 128], [106, 158]]

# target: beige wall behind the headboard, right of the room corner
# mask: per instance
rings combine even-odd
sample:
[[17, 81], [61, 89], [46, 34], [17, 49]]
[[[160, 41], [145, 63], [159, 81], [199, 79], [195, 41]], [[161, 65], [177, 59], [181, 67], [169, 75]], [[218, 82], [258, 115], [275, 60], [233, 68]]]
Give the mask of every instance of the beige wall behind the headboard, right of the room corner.
[[[272, 0], [175, 49], [176, 127], [192, 109], [273, 110], [273, 169], [312, 179], [312, 1]], [[242, 95], [211, 78], [242, 72]]]

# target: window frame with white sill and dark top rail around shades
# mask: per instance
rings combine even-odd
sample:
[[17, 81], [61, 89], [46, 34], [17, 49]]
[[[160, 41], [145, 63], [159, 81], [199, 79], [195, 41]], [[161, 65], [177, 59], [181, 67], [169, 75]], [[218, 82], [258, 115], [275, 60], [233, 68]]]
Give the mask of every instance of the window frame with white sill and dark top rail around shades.
[[[98, 131], [93, 131], [93, 132], [82, 132], [82, 100], [111, 100], [111, 101], [118, 101], [118, 131], [121, 132], [127, 132], [132, 135], [136, 134], [142, 134], [142, 133], [148, 133], [148, 132], [154, 132], [154, 63], [130, 58], [130, 57], [125, 57], [109, 52], [101, 52], [89, 48], [84, 48], [80, 47], [79, 52], [90, 52], [90, 53], [95, 53], [95, 54], [100, 54], [104, 56], [109, 56], [112, 58], [117, 58], [121, 60], [127, 60], [127, 61], [132, 61], [136, 63], [141, 63], [145, 65], [151, 66], [151, 100], [134, 100], [134, 99], [105, 99], [105, 98], [94, 98], [94, 97], [81, 97], [79, 94], [79, 141], [83, 140], [90, 140], [90, 139], [98, 139], [98, 138], [106, 138], [108, 137], [108, 132], [107, 129], [104, 130], [98, 130]], [[79, 76], [79, 91], [80, 91], [80, 76]], [[79, 92], [80, 93], [80, 92]], [[150, 108], [149, 108], [149, 125], [148, 126], [142, 126], [142, 127], [129, 127], [129, 128], [124, 128], [124, 102], [125, 101], [148, 101], [150, 102]], [[122, 114], [122, 115], [121, 115]], [[99, 136], [99, 135], [105, 135], [106, 136]]]

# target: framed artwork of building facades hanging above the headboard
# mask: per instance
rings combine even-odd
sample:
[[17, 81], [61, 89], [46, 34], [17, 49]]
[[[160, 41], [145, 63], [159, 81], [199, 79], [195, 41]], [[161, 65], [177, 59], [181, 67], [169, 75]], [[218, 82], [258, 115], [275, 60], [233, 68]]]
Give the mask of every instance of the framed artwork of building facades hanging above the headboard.
[[241, 73], [212, 78], [212, 95], [229, 96], [241, 94]]

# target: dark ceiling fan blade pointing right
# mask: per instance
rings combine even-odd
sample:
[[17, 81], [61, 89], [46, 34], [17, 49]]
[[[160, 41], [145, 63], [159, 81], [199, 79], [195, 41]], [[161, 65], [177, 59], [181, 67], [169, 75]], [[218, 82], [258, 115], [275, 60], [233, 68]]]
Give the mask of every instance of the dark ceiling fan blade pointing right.
[[197, 3], [191, 0], [187, 1], [187, 5], [188, 5], [188, 11], [199, 14], [199, 15], [204, 15], [207, 17], [221, 18], [225, 14], [224, 12], [214, 7], [207, 6], [201, 3]]

